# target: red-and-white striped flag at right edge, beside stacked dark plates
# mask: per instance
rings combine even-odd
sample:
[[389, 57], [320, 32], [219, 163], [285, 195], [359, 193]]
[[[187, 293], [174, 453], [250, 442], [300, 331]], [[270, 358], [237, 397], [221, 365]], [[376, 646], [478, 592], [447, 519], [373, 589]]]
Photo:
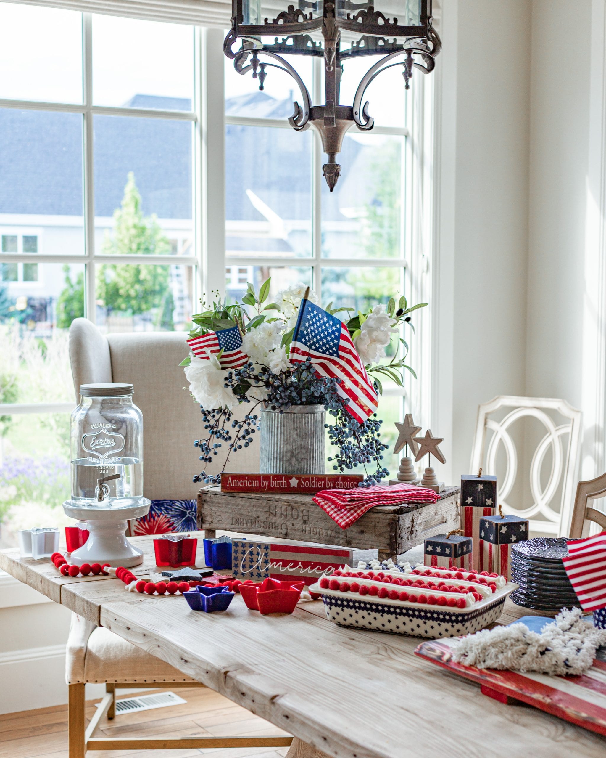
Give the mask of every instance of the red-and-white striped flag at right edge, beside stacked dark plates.
[[569, 542], [562, 562], [583, 610], [606, 607], [606, 531]]

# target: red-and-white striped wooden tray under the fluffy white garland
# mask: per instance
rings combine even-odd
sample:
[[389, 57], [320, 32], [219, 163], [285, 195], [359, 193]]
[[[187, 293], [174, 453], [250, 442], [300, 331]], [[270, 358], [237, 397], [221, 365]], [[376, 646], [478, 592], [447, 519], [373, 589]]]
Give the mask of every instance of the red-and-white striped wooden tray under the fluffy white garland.
[[448, 671], [481, 685], [483, 694], [511, 705], [528, 703], [561, 719], [606, 735], [606, 655], [604, 648], [583, 676], [519, 674], [496, 669], [476, 669], [451, 659], [450, 640], [423, 642], [414, 653]]

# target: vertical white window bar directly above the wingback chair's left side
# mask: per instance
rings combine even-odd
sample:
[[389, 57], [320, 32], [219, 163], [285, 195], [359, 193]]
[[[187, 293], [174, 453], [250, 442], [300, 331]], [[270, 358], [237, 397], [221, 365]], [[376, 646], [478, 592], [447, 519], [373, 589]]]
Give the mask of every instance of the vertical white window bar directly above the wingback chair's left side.
[[95, 190], [92, 124], [92, 17], [82, 15], [83, 94], [84, 94], [84, 251], [86, 287], [84, 315], [96, 323], [95, 298]]

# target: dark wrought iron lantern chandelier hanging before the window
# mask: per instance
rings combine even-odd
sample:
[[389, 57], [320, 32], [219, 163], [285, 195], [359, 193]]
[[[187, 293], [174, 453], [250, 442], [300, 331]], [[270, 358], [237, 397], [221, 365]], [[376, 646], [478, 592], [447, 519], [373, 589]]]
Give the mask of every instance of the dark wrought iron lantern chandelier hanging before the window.
[[[328, 156], [323, 174], [331, 192], [341, 172], [336, 155], [341, 152], [345, 132], [353, 124], [361, 131], [373, 128], [368, 102], [362, 105], [370, 83], [382, 71], [403, 66], [405, 86], [409, 89], [413, 69], [429, 74], [442, 47], [431, 24], [432, 0], [377, 2], [380, 2], [378, 8], [352, 0], [298, 0], [297, 8], [288, 5], [281, 9], [286, 6], [285, 0], [232, 0], [232, 27], [225, 38], [223, 52], [233, 59], [239, 74], [252, 72], [253, 78], [259, 80], [259, 89], [263, 89], [267, 67], [283, 70], [295, 80], [303, 104], [294, 103], [295, 112], [289, 118], [289, 124], [298, 132], [308, 129], [311, 124], [320, 133]], [[278, 39], [276, 33], [282, 39]], [[392, 39], [387, 39], [386, 35]], [[273, 41], [264, 42], [267, 37], [273, 37]], [[238, 39], [241, 46], [234, 51]], [[285, 54], [323, 57], [325, 105], [311, 105], [305, 83], [282, 57]], [[276, 62], [261, 62], [261, 55]], [[353, 105], [341, 105], [339, 89], [343, 61], [364, 55], [382, 57], [362, 77]], [[396, 61], [397, 58], [400, 60]]]

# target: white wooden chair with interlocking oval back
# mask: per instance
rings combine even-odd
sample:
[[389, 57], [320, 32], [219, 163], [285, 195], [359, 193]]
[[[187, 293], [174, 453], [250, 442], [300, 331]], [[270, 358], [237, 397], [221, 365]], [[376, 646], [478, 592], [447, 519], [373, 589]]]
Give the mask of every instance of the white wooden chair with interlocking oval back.
[[[536, 444], [523, 426], [530, 418], [542, 424]], [[504, 512], [528, 518], [530, 531], [559, 537], [569, 534], [581, 418], [581, 412], [565, 400], [545, 397], [500, 395], [478, 408], [470, 472], [482, 468], [485, 475], [497, 475], [502, 450], [504, 473], [501, 468], [498, 503]], [[520, 440], [520, 450], [516, 439]], [[529, 477], [531, 502], [525, 508], [514, 504], [519, 471], [527, 471]]]

